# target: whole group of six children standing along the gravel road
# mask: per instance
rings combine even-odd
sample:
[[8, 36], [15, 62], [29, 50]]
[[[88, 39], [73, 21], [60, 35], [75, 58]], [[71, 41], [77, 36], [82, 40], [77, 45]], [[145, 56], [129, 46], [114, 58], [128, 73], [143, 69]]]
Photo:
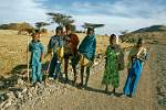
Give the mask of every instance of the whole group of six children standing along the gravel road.
[[[72, 33], [70, 25], [65, 26], [65, 34], [62, 26], [58, 26], [55, 35], [53, 35], [48, 45], [48, 53], [45, 56], [51, 56], [49, 64], [49, 79], [62, 78], [61, 64], [64, 61], [65, 82], [69, 82], [68, 68], [69, 61], [71, 61], [74, 73], [73, 85], [76, 86], [76, 65], [81, 65], [80, 72], [80, 87], [87, 87], [90, 78], [90, 69], [95, 59], [96, 38], [94, 29], [89, 28], [86, 36], [79, 46], [79, 37]], [[31, 52], [31, 67], [32, 67], [32, 85], [42, 81], [42, 61], [44, 58], [44, 47], [40, 42], [40, 33], [32, 34], [32, 41], [29, 44]], [[132, 48], [128, 55], [128, 76], [124, 86], [124, 95], [132, 97], [138, 82], [143, 63], [147, 58], [147, 51], [144, 47], [143, 38], [138, 38], [137, 44]], [[86, 77], [84, 82], [84, 68], [86, 68]], [[113, 86], [113, 94], [120, 86], [118, 72], [124, 69], [124, 52], [118, 44], [118, 37], [115, 34], [110, 36], [110, 45], [105, 52], [105, 70], [102, 84], [105, 85], [105, 92], [108, 91], [108, 85]]]

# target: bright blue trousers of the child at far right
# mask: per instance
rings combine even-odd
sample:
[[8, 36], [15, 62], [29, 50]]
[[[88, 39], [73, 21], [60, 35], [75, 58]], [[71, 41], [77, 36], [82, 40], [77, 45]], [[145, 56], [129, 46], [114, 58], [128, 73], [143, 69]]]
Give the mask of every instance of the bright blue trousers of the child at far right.
[[125, 95], [134, 95], [136, 91], [137, 82], [139, 80], [143, 69], [143, 61], [133, 59], [132, 68], [128, 70], [127, 80], [124, 87]]

